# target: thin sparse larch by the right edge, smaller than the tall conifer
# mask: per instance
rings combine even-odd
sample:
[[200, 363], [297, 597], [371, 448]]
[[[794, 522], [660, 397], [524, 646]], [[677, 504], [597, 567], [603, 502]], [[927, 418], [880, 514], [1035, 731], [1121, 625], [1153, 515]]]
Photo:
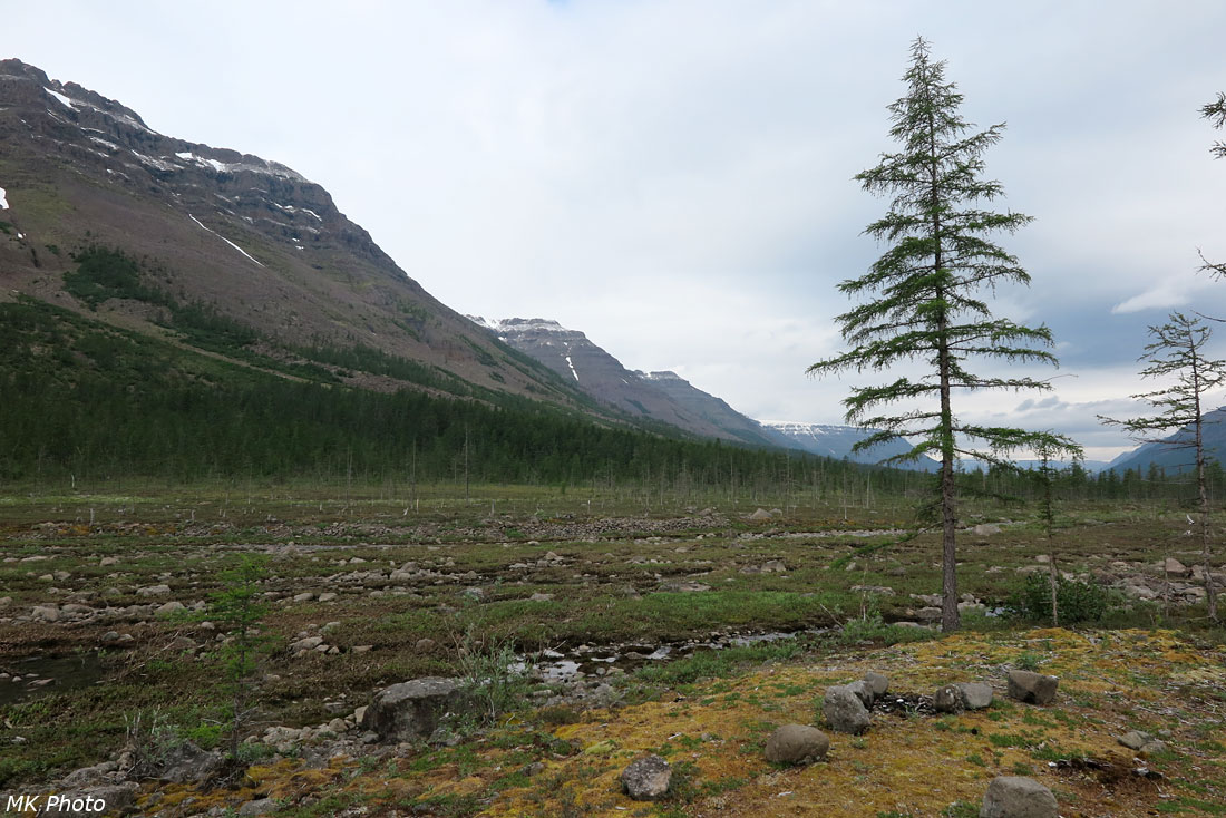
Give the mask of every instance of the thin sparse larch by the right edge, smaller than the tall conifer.
[[1205, 598], [1209, 617], [1217, 621], [1217, 590], [1214, 585], [1211, 530], [1209, 521], [1209, 491], [1204, 440], [1204, 399], [1206, 392], [1226, 384], [1226, 361], [1205, 357], [1205, 345], [1213, 336], [1199, 319], [1183, 313], [1171, 313], [1166, 324], [1149, 327], [1154, 338], [1145, 346], [1140, 361], [1146, 363], [1141, 378], [1166, 380], [1167, 386], [1151, 392], [1133, 395], [1152, 406], [1156, 412], [1145, 417], [1117, 421], [1098, 416], [1106, 423], [1123, 427], [1138, 443], [1156, 443], [1193, 454], [1197, 473], [1197, 506], [1200, 520], [1200, 557], [1204, 563]]

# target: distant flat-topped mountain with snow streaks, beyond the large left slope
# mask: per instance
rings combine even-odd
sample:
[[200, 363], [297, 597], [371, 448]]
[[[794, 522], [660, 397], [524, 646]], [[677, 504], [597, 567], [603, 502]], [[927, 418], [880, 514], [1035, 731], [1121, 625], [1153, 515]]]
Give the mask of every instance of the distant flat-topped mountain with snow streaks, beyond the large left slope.
[[705, 438], [777, 446], [783, 441], [672, 372], [631, 372], [577, 330], [541, 318], [468, 316], [512, 348], [535, 358], [597, 401], [631, 417]]

